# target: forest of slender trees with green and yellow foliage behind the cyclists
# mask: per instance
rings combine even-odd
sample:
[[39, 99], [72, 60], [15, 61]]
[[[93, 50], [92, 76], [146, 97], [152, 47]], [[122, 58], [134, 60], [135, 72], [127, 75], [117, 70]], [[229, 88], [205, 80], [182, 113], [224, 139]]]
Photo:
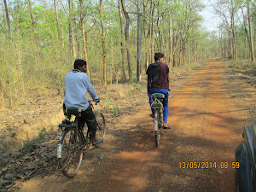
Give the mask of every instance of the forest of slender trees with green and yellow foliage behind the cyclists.
[[63, 94], [78, 58], [100, 86], [139, 82], [155, 52], [165, 54], [169, 67], [210, 58], [255, 62], [255, 0], [211, 4], [221, 22], [209, 32], [201, 0], [3, 0], [0, 109]]

